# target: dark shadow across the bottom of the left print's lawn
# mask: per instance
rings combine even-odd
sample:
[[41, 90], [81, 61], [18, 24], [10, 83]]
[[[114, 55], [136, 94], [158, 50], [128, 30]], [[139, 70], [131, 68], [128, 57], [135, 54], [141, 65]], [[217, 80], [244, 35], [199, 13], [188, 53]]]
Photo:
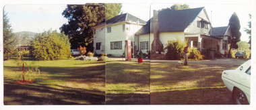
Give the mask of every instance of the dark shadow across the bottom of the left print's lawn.
[[[4, 104], [80, 105], [105, 103], [105, 96], [102, 91], [89, 91], [86, 89], [75, 89], [70, 87], [61, 87], [63, 89], [56, 89], [49, 86], [58, 85], [18, 85], [5, 83]], [[32, 91], [33, 93], [27, 93], [27, 91]]]

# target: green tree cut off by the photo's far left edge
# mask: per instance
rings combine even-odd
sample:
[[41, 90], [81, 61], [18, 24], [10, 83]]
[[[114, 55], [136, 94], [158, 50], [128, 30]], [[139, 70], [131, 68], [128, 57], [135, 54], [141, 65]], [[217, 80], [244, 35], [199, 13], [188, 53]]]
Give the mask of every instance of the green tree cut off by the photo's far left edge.
[[3, 11], [3, 56], [5, 60], [8, 60], [13, 52], [14, 42], [14, 34], [9, 24], [9, 18], [7, 17], [7, 13]]

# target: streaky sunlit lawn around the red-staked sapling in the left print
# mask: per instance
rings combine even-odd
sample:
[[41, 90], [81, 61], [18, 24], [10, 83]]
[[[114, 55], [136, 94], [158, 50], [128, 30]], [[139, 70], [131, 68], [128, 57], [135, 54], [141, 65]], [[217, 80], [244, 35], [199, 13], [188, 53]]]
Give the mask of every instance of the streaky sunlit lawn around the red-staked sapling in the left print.
[[82, 60], [33, 61], [24, 60], [28, 66], [38, 66], [40, 75], [35, 82], [20, 85], [18, 74], [22, 68], [15, 60], [4, 61], [5, 105], [79, 105], [105, 103], [105, 62]]

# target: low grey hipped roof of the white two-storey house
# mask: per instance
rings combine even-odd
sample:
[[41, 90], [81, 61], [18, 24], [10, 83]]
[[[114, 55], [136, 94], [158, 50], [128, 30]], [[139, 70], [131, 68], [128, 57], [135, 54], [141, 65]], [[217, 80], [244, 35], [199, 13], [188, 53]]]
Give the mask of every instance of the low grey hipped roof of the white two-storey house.
[[[122, 21], [132, 21], [132, 22], [137, 22], [137, 20], [139, 20], [139, 23], [144, 23], [146, 24], [146, 21], [139, 19], [138, 17], [135, 17], [134, 15], [131, 15], [130, 13], [123, 13], [121, 15], [117, 15], [115, 17], [112, 17], [111, 19], [106, 20], [106, 25], [110, 25], [113, 23], [119, 23]], [[97, 25], [95, 25], [94, 27], [98, 26], [98, 25], [102, 25], [105, 22], [99, 23]]]

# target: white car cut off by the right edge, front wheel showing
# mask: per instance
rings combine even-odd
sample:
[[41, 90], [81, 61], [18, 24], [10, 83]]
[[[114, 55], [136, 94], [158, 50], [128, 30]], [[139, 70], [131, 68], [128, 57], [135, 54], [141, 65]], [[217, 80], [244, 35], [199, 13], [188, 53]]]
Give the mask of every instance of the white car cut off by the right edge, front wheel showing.
[[238, 105], [249, 105], [251, 97], [251, 60], [235, 70], [224, 70], [222, 80], [232, 91], [232, 98]]

